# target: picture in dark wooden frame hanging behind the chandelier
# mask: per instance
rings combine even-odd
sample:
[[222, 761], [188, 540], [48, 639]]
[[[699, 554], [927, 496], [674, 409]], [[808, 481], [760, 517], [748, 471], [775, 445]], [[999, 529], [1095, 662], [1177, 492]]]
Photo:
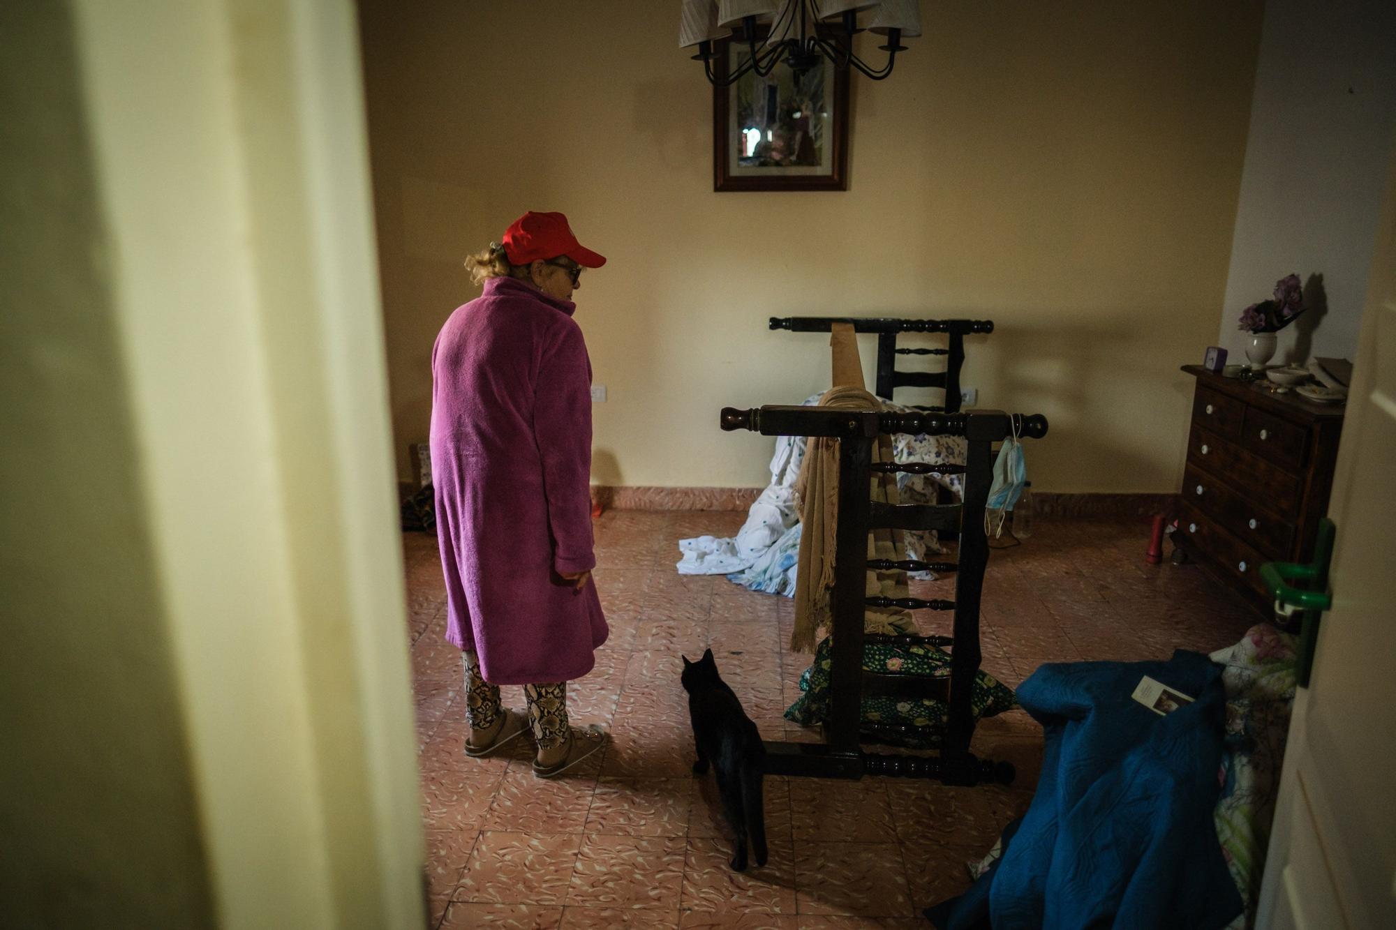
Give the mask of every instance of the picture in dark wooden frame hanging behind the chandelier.
[[[757, 47], [759, 49], [761, 40]], [[750, 57], [718, 43], [713, 75]], [[847, 190], [849, 70], [821, 56], [808, 71], [780, 61], [712, 89], [713, 190]]]

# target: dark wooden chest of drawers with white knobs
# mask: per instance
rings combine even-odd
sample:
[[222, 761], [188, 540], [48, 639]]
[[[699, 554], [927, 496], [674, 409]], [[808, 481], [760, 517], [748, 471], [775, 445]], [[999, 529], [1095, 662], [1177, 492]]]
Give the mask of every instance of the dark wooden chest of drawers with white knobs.
[[1269, 612], [1265, 561], [1307, 561], [1328, 512], [1343, 406], [1198, 364], [1174, 543]]

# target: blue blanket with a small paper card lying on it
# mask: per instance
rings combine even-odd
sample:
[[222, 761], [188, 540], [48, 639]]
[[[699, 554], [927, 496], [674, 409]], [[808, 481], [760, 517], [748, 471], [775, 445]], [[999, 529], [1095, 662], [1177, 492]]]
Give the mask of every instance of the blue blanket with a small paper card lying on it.
[[[942, 930], [1208, 930], [1241, 913], [1212, 818], [1220, 672], [1182, 649], [1168, 662], [1037, 669], [1018, 688], [1047, 740], [1033, 803], [994, 867], [927, 916]], [[1131, 698], [1143, 676], [1196, 701], [1159, 716]]]

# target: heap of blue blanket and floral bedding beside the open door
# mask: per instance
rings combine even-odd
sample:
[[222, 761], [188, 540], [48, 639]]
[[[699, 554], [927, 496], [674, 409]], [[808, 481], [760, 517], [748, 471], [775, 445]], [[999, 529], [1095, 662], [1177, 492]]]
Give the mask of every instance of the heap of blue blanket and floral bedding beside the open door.
[[[1018, 687], [1046, 739], [1032, 806], [970, 866], [974, 885], [926, 916], [941, 930], [1251, 926], [1295, 655], [1259, 624], [1210, 656], [1039, 667]], [[1127, 697], [1141, 676], [1195, 700], [1150, 711]]]

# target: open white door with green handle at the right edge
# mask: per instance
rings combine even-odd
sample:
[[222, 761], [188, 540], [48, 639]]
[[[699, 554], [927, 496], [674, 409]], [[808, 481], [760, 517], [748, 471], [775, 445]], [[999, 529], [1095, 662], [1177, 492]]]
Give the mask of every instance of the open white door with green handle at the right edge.
[[1396, 927], [1396, 170], [1379, 229], [1329, 505], [1333, 609], [1294, 701], [1261, 927]]

